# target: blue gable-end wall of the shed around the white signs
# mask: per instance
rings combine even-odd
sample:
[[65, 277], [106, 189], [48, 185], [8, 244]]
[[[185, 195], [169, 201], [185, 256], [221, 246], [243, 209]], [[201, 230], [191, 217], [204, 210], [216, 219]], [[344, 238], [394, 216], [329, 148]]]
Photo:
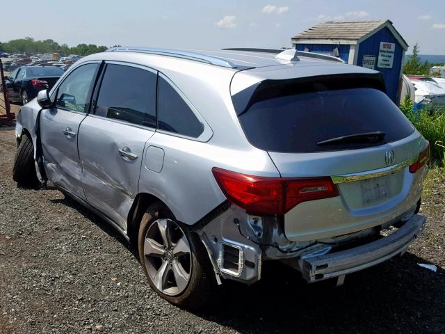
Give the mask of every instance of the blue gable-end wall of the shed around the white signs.
[[[380, 42], [396, 43], [396, 50], [394, 52], [394, 63], [393, 67], [390, 69], [377, 67], [378, 50], [380, 47]], [[384, 28], [378, 31], [377, 33], [371, 35], [366, 40], [360, 42], [357, 65], [362, 66], [364, 55], [372, 55], [376, 57], [375, 70], [382, 72], [383, 77], [385, 78], [387, 95], [391, 98], [391, 100], [393, 100], [393, 102], [398, 103], [397, 88], [398, 88], [399, 75], [401, 73], [403, 48], [398, 43], [396, 38], [394, 38], [394, 35], [391, 33], [391, 31], [389, 31], [389, 29], [387, 28]]]

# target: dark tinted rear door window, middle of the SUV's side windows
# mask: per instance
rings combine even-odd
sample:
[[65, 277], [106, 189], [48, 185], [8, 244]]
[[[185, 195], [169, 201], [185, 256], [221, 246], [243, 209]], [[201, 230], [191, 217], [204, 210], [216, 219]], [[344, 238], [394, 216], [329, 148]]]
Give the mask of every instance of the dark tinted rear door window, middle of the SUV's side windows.
[[137, 67], [107, 65], [95, 114], [156, 127], [156, 77]]

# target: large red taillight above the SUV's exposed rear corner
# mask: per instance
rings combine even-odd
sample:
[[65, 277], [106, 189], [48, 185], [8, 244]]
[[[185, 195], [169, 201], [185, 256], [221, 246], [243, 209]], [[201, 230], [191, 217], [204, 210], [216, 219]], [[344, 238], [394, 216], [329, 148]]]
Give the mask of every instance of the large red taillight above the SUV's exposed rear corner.
[[300, 202], [339, 196], [330, 177], [258, 177], [212, 169], [227, 200], [251, 214], [285, 214]]

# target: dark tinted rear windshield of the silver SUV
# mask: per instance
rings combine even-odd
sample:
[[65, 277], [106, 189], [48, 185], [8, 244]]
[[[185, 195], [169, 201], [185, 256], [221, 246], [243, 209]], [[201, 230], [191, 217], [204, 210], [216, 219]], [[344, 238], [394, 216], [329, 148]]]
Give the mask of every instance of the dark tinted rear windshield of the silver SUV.
[[[247, 90], [252, 88], [248, 88]], [[246, 91], [247, 91], [246, 90]], [[240, 93], [238, 93], [240, 94]], [[333, 82], [268, 83], [232, 100], [252, 145], [272, 152], [352, 150], [398, 141], [414, 131], [378, 85]], [[373, 141], [321, 144], [332, 138], [382, 132]]]

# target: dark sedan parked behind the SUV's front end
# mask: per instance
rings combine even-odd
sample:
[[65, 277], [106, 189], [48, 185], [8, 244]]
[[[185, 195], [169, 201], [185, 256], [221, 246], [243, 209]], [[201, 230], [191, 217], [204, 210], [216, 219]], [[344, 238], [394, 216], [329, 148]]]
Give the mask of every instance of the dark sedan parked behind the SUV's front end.
[[40, 90], [50, 90], [62, 76], [63, 70], [52, 66], [22, 66], [6, 80], [6, 91], [11, 102], [28, 103]]

